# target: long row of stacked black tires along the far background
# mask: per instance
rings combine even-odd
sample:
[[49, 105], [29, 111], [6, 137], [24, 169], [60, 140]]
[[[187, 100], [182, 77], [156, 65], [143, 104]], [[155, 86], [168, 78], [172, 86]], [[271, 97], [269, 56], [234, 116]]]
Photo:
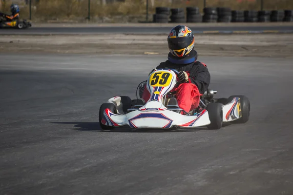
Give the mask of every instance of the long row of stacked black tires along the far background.
[[[185, 22], [293, 22], [293, 10], [232, 10], [229, 7], [206, 7], [201, 16], [198, 7], [184, 8], [156, 7], [153, 22], [185, 23]], [[171, 13], [171, 15], [170, 15]]]

